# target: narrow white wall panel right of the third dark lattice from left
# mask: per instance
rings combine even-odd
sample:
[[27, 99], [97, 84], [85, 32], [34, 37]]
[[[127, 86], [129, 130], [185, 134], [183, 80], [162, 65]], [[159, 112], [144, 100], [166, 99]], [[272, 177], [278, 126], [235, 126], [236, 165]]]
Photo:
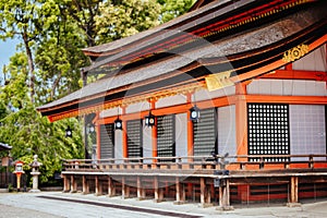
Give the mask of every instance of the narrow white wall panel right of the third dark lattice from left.
[[175, 156], [187, 157], [187, 113], [175, 114]]

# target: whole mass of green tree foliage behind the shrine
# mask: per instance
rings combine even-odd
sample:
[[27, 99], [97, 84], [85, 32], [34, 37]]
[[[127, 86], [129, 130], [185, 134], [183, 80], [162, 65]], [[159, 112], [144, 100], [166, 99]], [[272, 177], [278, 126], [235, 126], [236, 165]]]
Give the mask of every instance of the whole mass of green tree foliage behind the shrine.
[[[41, 181], [61, 159], [83, 158], [81, 121], [50, 123], [36, 107], [81, 88], [82, 48], [126, 37], [189, 10], [193, 0], [0, 0], [0, 40], [17, 38], [0, 82], [0, 142], [14, 159], [43, 162]], [[71, 126], [72, 138], [64, 130]], [[27, 167], [28, 168], [28, 167]]]

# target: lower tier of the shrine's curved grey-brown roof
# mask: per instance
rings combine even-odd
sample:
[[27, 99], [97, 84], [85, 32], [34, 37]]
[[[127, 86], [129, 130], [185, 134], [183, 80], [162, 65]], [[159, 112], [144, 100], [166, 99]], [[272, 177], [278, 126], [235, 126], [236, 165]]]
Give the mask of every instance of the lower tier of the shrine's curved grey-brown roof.
[[[295, 2], [295, 0], [292, 2]], [[326, 5], [326, 2], [324, 5]], [[213, 13], [215, 14], [215, 12]], [[211, 17], [214, 17], [213, 14]], [[171, 56], [164, 59], [154, 59], [148, 63], [144, 61], [142, 64], [130, 69], [116, 69], [114, 71], [110, 71], [110, 76], [108, 75], [61, 99], [41, 106], [38, 110], [47, 116], [56, 113], [55, 111], [58, 111], [58, 109], [61, 109], [61, 112], [69, 108], [72, 110], [74, 109], [72, 106], [76, 108], [78, 107], [78, 104], [92, 104], [95, 99], [105, 99], [110, 95], [128, 90], [133, 86], [141, 86], [155, 83], [156, 81], [167, 80], [177, 75], [179, 71], [189, 71], [190, 69], [185, 70], [186, 66], [192, 64], [194, 65], [193, 69], [205, 66], [208, 71], [213, 71], [211, 73], [219, 73], [221, 69], [215, 68], [215, 64], [220, 64], [220, 62], [229, 63], [229, 61], [231, 61], [229, 63], [230, 66], [228, 66], [229, 69], [233, 69], [231, 63], [235, 63], [235, 68], [238, 69], [243, 69], [240, 70], [240, 72], [238, 71], [237, 74], [251, 71], [255, 64], [258, 64], [255, 68], [261, 68], [262, 64], [268, 64], [277, 57], [281, 59], [280, 56], [282, 56], [286, 50], [293, 47], [293, 44], [298, 45], [301, 41], [303, 43], [303, 40], [315, 40], [318, 37], [314, 35], [316, 31], [319, 32], [320, 35], [324, 33], [326, 34], [326, 13], [322, 7], [314, 7], [312, 9], [307, 8], [306, 10], [301, 10], [299, 13], [293, 11], [290, 15], [283, 14], [282, 17], [278, 17], [278, 20], [275, 20], [274, 22], [269, 21], [258, 26], [253, 25], [251, 29], [243, 29], [242, 33], [231, 32], [233, 34], [223, 38], [218, 38], [213, 43], [209, 43], [204, 38], [196, 38], [193, 44], [187, 44], [187, 48], [184, 48], [181, 52], [177, 52], [178, 50], [175, 50]], [[307, 36], [303, 37], [302, 32]], [[161, 38], [162, 37], [165, 38], [167, 35], [161, 36]], [[288, 41], [293, 43], [287, 45]], [[148, 44], [152, 43], [154, 41], [148, 41]], [[140, 46], [146, 45], [141, 44]], [[133, 49], [137, 50], [140, 47]], [[276, 51], [274, 51], [274, 49]], [[109, 57], [93, 68], [101, 66], [108, 61], [110, 62], [111, 60], [121, 58], [129, 51], [131, 50], [122, 51], [118, 53], [117, 57]], [[261, 53], [263, 51], [266, 53]], [[274, 53], [271, 53], [272, 51]], [[250, 60], [252, 56], [255, 57], [253, 60], [259, 58], [263, 60], [252, 63]], [[271, 57], [267, 58], [266, 56]], [[269, 62], [265, 62], [265, 58]], [[249, 80], [251, 77], [250, 75], [253, 74], [242, 75], [240, 76], [240, 80]]]

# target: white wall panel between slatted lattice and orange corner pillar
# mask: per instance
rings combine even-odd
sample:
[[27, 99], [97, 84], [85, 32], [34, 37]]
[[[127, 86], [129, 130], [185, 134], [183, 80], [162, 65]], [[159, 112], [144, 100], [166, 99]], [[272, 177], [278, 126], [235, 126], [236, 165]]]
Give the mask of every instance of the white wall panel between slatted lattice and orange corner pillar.
[[235, 106], [218, 108], [218, 154], [226, 153], [237, 155]]

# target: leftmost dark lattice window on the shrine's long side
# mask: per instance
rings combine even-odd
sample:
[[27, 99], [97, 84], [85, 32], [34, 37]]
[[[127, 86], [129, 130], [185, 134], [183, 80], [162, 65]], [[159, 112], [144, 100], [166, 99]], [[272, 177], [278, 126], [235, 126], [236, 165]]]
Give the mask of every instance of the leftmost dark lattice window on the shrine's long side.
[[100, 158], [114, 158], [113, 124], [100, 125]]

